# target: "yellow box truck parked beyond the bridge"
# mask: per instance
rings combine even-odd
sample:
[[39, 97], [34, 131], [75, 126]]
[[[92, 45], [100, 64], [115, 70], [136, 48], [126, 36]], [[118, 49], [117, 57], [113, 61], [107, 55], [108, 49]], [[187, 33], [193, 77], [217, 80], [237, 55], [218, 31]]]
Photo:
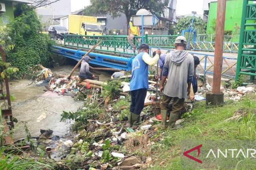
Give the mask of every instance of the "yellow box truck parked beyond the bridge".
[[60, 25], [66, 27], [69, 34], [89, 36], [102, 35], [101, 24], [97, 23], [97, 17], [68, 15], [60, 18]]

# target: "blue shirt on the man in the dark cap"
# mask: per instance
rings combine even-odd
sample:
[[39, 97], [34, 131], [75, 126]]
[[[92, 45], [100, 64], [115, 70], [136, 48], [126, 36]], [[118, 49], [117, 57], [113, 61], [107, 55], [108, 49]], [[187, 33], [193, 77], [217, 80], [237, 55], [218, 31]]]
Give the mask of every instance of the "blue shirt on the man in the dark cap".
[[140, 52], [132, 61], [130, 91], [148, 89], [148, 65], [142, 59], [144, 53]]

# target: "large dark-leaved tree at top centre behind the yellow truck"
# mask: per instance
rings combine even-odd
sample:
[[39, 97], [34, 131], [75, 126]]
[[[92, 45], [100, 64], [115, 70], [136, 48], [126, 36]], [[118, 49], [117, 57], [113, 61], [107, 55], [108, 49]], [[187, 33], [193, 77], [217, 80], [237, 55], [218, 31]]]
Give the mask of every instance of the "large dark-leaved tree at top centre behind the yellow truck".
[[152, 14], [160, 16], [169, 0], [90, 0], [91, 5], [84, 9], [83, 14], [109, 14], [113, 18], [125, 14], [127, 25], [132, 15], [144, 8]]

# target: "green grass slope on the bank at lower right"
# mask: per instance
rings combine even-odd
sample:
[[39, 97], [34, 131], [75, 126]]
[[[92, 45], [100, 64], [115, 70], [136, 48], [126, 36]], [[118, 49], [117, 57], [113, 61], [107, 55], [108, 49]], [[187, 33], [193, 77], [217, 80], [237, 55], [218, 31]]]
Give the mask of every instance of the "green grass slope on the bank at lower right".
[[[249, 113], [237, 121], [224, 122], [241, 108], [248, 109]], [[193, 111], [186, 114], [181, 129], [165, 131], [161, 147], [152, 154], [154, 167], [151, 169], [182, 169], [180, 145], [183, 140], [255, 140], [255, 108], [256, 95], [228, 102], [223, 107], [207, 108], [204, 102], [195, 104]]]

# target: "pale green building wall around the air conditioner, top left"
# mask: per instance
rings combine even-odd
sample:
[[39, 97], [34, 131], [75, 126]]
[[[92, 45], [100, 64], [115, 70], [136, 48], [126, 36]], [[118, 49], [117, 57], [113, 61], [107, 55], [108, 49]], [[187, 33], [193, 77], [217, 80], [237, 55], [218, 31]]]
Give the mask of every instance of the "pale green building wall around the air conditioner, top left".
[[2, 13], [2, 15], [0, 16], [0, 26], [4, 26], [6, 24], [9, 23], [9, 21], [11, 19], [14, 19], [14, 15], [13, 15], [13, 5], [12, 2], [9, 1], [2, 1], [0, 0], [1, 3], [5, 4], [5, 13]]

